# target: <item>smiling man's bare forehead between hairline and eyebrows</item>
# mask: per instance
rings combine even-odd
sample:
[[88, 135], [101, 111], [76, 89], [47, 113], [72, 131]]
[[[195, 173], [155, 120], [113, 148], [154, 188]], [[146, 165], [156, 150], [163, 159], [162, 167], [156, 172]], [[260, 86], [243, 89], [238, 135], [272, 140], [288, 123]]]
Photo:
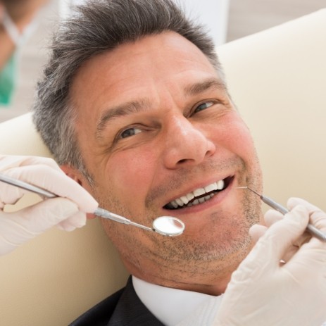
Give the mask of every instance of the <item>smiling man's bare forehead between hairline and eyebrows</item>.
[[70, 96], [77, 116], [92, 112], [94, 118], [121, 101], [161, 89], [178, 92], [190, 80], [211, 76], [217, 77], [213, 65], [192, 42], [175, 32], [162, 32], [91, 58], [78, 70]]

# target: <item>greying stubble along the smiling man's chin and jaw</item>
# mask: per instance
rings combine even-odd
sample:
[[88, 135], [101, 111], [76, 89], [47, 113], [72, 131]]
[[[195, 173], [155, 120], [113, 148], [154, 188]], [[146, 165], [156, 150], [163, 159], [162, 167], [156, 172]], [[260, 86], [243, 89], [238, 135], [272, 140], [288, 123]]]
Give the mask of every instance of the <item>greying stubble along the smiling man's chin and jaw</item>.
[[[244, 166], [243, 168], [245, 169]], [[259, 173], [247, 175], [246, 180], [242, 182], [247, 182], [246, 184], [253, 189], [260, 190], [261, 176]], [[101, 194], [100, 197], [98, 201], [102, 207], [114, 207], [117, 209], [114, 213], [130, 216], [131, 212], [123, 206], [123, 203], [115, 201], [113, 196], [104, 198]], [[105, 228], [120, 255], [138, 270], [151, 273], [144, 267], [149, 264], [153, 266], [153, 274], [173, 279], [175, 282], [184, 282], [185, 278], [191, 277], [199, 277], [202, 280], [218, 278], [219, 275], [235, 270], [245, 258], [252, 245], [249, 227], [259, 222], [261, 218], [261, 203], [258, 197], [253, 196], [251, 192], [244, 192], [242, 198], [242, 202], [238, 203], [241, 207], [238, 208], [239, 213], [227, 214], [223, 211], [213, 213], [208, 218], [210, 222], [206, 223], [205, 229], [200, 230], [199, 237], [196, 238], [163, 237], [116, 222], [109, 222]], [[173, 211], [171, 212], [173, 215]], [[148, 218], [151, 220], [151, 217]], [[218, 232], [223, 230], [221, 227], [223, 219], [237, 232]], [[142, 232], [140, 236], [139, 232]]]

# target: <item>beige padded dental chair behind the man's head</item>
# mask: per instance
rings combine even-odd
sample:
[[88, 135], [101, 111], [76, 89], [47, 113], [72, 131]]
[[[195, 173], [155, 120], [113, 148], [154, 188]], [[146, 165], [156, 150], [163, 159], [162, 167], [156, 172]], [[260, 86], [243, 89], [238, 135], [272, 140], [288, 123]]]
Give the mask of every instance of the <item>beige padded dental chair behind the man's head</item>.
[[[326, 9], [218, 53], [255, 139], [265, 194], [326, 210]], [[0, 124], [0, 153], [49, 156], [29, 114]], [[54, 228], [0, 257], [0, 325], [68, 325], [126, 278], [99, 220], [70, 233]]]

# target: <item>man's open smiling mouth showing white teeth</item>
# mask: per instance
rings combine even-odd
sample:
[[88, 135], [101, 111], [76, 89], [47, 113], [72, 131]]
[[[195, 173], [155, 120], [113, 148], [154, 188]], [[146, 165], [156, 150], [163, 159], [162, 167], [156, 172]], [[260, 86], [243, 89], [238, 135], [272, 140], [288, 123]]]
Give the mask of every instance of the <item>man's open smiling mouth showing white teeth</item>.
[[218, 180], [217, 182], [208, 184], [206, 187], [195, 189], [193, 192], [189, 192], [189, 194], [186, 194], [185, 196], [170, 201], [170, 203], [167, 203], [163, 208], [182, 209], [209, 201], [213, 196], [225, 190], [229, 186], [232, 178], [233, 177], [226, 177], [223, 180]]

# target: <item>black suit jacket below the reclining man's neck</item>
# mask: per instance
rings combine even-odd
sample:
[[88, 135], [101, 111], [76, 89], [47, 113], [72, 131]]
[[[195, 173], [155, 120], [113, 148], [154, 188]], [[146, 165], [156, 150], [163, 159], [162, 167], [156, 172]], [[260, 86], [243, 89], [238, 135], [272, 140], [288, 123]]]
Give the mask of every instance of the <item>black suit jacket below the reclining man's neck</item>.
[[70, 326], [164, 326], [139, 300], [130, 277], [125, 288], [115, 292]]

